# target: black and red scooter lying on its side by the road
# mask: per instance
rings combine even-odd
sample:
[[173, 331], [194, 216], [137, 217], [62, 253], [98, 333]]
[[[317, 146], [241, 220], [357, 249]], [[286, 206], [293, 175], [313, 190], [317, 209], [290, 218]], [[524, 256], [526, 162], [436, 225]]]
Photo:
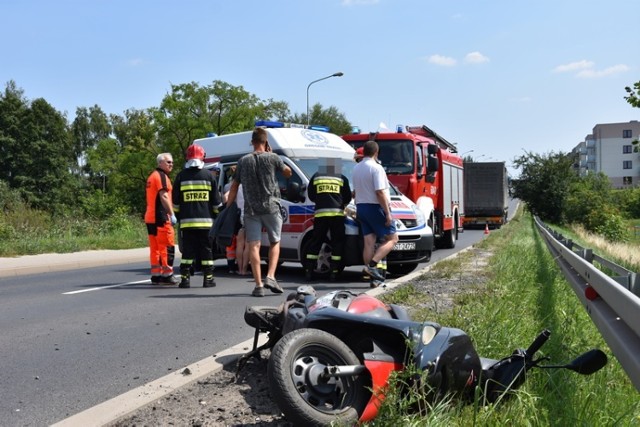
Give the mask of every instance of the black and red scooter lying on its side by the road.
[[[352, 424], [374, 419], [393, 371], [419, 368], [426, 398], [456, 395], [484, 402], [508, 398], [532, 368], [562, 368], [590, 375], [607, 363], [600, 350], [566, 365], [541, 365], [534, 354], [549, 339], [544, 330], [527, 349], [503, 359], [478, 356], [460, 329], [414, 322], [407, 311], [366, 294], [334, 291], [318, 297], [300, 286], [279, 307], [251, 306], [245, 321], [255, 328], [252, 351], [238, 369], [271, 349], [267, 375], [272, 398], [295, 425]], [[261, 332], [268, 334], [258, 346]]]

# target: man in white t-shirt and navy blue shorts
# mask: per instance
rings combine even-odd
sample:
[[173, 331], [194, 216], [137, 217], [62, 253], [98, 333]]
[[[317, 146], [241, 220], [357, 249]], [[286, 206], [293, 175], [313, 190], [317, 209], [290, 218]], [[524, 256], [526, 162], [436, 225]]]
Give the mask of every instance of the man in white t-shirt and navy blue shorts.
[[[391, 216], [389, 180], [382, 165], [377, 162], [378, 143], [367, 141], [363, 146], [364, 158], [353, 169], [353, 188], [356, 211], [364, 235], [362, 258], [364, 273], [374, 281], [384, 281], [384, 272], [378, 267], [398, 241], [398, 233]], [[376, 249], [376, 239], [382, 243]]]

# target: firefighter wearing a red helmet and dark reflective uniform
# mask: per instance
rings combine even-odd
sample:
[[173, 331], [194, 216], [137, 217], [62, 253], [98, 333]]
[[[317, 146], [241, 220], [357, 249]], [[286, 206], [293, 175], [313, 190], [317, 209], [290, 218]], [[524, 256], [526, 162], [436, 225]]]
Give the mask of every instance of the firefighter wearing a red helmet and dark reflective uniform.
[[181, 281], [191, 287], [191, 267], [197, 258], [202, 264], [202, 286], [216, 285], [213, 278], [213, 248], [209, 231], [221, 204], [220, 190], [211, 171], [203, 169], [205, 152], [198, 144], [187, 148], [187, 163], [173, 182], [173, 210], [182, 234]]

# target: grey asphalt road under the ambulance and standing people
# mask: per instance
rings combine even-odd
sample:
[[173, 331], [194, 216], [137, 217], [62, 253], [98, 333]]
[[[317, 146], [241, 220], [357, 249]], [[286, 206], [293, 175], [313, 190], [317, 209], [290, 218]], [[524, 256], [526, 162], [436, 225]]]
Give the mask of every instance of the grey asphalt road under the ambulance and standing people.
[[[429, 264], [483, 235], [461, 233]], [[0, 278], [0, 424], [52, 424], [251, 338], [245, 307], [282, 296], [253, 298], [249, 277], [227, 274], [223, 260], [216, 267], [217, 287], [206, 289], [200, 275], [191, 289], [152, 286], [146, 262]], [[348, 268], [339, 282], [313, 285], [366, 291], [360, 276]], [[285, 295], [305, 283], [298, 264], [277, 277]]]

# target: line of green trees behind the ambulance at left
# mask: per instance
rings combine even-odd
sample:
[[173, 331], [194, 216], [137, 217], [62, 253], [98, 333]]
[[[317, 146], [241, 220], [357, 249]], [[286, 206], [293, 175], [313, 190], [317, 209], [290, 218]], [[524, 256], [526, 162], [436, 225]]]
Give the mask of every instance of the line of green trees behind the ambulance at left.
[[[178, 165], [187, 146], [209, 133], [250, 130], [256, 120], [306, 122], [284, 101], [260, 99], [223, 81], [172, 85], [159, 106], [107, 114], [78, 107], [69, 122], [43, 98], [29, 100], [14, 81], [0, 94], [0, 197], [53, 215], [106, 218], [141, 214], [144, 186], [159, 153]], [[348, 133], [335, 107], [313, 106], [310, 121]], [[176, 168], [177, 171], [180, 168]], [[176, 171], [176, 172], [177, 172]]]

